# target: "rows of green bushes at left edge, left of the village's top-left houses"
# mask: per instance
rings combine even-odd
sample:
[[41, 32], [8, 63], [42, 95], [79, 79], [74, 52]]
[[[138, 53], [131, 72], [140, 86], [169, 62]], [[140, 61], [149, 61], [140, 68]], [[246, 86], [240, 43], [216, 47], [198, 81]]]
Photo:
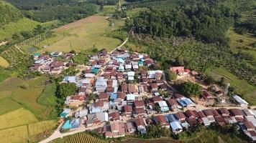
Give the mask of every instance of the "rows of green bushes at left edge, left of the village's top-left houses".
[[22, 54], [22, 52], [14, 46], [5, 49], [0, 55], [9, 62], [12, 69], [19, 71], [20, 69], [27, 69], [27, 65], [32, 61], [29, 55]]

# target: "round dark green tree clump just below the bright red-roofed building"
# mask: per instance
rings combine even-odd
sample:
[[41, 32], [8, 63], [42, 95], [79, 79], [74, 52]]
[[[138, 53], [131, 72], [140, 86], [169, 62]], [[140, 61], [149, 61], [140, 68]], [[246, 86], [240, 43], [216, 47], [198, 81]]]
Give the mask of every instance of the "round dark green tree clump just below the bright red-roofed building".
[[193, 82], [185, 82], [181, 85], [180, 91], [188, 97], [198, 96], [201, 94], [201, 87]]

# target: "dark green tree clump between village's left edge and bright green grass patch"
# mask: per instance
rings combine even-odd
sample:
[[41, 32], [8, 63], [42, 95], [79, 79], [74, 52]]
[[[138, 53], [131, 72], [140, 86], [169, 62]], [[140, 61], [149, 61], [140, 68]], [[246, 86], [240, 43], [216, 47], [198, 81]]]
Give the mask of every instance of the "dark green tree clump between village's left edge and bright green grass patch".
[[74, 94], [77, 91], [77, 89], [78, 87], [76, 87], [76, 84], [73, 83], [58, 84], [57, 95], [59, 98], [65, 98]]

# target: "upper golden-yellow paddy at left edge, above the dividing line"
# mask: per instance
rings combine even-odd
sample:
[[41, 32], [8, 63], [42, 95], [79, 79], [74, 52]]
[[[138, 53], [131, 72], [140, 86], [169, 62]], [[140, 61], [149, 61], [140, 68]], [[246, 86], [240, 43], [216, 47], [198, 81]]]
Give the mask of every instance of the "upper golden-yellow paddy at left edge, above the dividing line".
[[27, 109], [20, 108], [13, 112], [1, 115], [0, 121], [0, 129], [6, 129], [10, 127], [20, 126], [22, 124], [38, 122], [38, 119]]

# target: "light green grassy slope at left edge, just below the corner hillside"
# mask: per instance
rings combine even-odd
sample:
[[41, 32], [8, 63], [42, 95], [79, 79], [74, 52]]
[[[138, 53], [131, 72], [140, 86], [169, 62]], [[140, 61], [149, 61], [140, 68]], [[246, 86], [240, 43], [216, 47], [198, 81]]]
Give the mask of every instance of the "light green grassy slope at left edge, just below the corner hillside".
[[19, 33], [21, 31], [32, 31], [37, 24], [37, 21], [23, 18], [15, 22], [10, 22], [0, 28], [0, 40], [12, 37], [12, 34]]

